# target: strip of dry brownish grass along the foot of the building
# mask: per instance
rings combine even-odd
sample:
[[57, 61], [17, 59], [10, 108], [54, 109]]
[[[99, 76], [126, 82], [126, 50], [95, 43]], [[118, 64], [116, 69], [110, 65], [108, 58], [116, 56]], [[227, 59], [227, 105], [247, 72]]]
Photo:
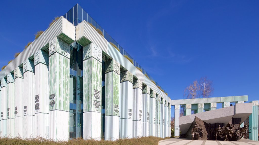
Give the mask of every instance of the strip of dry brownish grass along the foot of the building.
[[[164, 138], [169, 139], [170, 137]], [[1, 138], [0, 144], [11, 145], [11, 144], [22, 144], [22, 145], [157, 145], [158, 141], [164, 140], [163, 138], [157, 138], [153, 136], [141, 137], [134, 139], [119, 139], [116, 141], [97, 141], [97, 140], [84, 140], [77, 138], [69, 141], [54, 142], [52, 140], [37, 137], [35, 139], [21, 139], [21, 138]]]

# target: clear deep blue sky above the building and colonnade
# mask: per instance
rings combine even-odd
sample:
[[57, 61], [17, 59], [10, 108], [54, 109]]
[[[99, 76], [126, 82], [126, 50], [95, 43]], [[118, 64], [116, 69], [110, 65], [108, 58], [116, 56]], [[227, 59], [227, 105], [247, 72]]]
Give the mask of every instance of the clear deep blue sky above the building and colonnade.
[[259, 99], [259, 1], [3, 1], [0, 66], [76, 3], [171, 99], [203, 76], [212, 97]]

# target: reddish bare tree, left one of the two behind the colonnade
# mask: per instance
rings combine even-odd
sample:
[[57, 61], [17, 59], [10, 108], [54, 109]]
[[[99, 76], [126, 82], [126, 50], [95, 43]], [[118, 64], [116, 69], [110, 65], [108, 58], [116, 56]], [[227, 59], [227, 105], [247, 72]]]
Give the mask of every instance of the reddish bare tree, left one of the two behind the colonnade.
[[199, 83], [197, 80], [185, 88], [184, 96], [186, 96], [186, 99], [199, 98]]

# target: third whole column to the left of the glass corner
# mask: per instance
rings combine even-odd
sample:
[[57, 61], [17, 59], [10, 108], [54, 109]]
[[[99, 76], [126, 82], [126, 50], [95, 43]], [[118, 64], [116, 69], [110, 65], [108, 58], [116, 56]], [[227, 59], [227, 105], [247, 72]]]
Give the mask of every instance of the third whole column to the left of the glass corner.
[[23, 63], [23, 112], [24, 138], [33, 138], [35, 134], [35, 94], [34, 94], [34, 62], [27, 59]]

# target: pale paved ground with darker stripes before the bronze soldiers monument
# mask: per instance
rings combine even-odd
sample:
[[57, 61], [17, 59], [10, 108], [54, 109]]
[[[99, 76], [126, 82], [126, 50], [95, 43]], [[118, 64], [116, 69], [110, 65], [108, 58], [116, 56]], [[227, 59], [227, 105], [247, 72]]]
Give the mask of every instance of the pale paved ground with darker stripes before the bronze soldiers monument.
[[188, 140], [172, 138], [161, 140], [159, 145], [259, 145], [258, 141], [241, 139], [239, 141], [215, 141], [215, 140]]

